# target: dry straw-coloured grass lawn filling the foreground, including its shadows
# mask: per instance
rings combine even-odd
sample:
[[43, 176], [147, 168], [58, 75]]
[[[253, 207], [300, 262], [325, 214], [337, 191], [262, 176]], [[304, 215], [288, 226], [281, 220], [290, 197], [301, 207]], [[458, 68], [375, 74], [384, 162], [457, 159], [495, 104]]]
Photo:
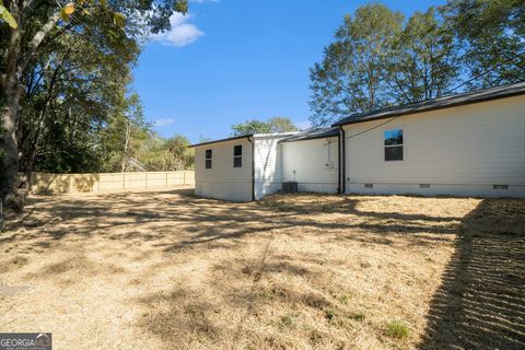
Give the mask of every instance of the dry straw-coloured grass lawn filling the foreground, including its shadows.
[[33, 197], [0, 330], [55, 349], [523, 349], [525, 201]]

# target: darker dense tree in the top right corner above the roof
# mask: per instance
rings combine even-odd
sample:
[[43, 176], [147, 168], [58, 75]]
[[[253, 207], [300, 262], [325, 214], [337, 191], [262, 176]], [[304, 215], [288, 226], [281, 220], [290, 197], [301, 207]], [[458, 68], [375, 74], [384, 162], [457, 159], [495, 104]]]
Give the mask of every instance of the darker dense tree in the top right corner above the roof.
[[443, 8], [460, 44], [467, 90], [524, 80], [524, 9], [523, 0], [450, 0]]

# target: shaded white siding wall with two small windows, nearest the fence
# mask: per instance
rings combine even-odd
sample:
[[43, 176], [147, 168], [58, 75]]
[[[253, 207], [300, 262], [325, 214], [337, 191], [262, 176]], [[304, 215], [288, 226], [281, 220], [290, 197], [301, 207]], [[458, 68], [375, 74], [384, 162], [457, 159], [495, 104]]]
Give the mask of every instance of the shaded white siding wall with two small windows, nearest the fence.
[[[233, 167], [233, 147], [243, 145], [243, 166]], [[206, 150], [212, 167], [206, 168]], [[252, 200], [252, 143], [247, 139], [198, 145], [195, 149], [195, 194], [231, 201]]]

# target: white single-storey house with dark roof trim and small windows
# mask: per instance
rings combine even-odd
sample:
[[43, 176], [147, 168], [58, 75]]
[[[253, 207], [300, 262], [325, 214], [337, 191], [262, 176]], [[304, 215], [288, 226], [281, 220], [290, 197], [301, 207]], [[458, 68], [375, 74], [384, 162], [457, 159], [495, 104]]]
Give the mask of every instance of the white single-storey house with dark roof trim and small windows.
[[525, 197], [525, 83], [351, 115], [331, 128], [195, 144], [196, 194]]

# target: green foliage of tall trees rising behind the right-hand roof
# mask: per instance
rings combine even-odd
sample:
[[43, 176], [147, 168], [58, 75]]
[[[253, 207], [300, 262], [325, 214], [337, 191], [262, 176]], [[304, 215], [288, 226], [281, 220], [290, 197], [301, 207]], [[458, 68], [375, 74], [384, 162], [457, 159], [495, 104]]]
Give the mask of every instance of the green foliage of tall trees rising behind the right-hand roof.
[[393, 104], [523, 80], [522, 0], [450, 0], [408, 21], [383, 4], [359, 8], [311, 69], [314, 127]]

